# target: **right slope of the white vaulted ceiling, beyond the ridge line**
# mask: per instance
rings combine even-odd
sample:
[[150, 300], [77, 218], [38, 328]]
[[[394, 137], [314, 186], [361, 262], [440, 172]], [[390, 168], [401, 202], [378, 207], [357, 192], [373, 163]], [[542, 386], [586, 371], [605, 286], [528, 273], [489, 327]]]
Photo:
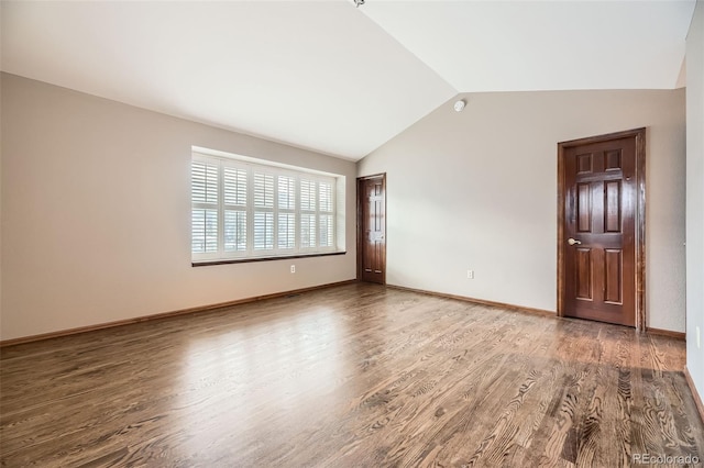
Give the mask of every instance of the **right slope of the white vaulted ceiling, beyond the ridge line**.
[[364, 11], [459, 91], [672, 89], [694, 5], [369, 0]]

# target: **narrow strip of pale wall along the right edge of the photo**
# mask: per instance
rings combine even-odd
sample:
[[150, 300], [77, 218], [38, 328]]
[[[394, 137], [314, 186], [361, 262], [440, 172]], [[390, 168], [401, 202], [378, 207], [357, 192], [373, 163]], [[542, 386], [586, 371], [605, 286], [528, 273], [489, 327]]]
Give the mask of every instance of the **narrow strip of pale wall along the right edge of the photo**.
[[686, 367], [704, 398], [704, 1], [686, 37]]

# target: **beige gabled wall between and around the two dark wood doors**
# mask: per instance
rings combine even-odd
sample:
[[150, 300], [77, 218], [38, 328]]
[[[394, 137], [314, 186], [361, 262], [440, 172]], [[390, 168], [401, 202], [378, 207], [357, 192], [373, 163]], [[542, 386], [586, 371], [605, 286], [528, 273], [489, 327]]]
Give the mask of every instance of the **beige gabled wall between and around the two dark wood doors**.
[[387, 172], [388, 283], [554, 311], [557, 143], [647, 126], [648, 326], [683, 332], [684, 90], [463, 97], [358, 165]]

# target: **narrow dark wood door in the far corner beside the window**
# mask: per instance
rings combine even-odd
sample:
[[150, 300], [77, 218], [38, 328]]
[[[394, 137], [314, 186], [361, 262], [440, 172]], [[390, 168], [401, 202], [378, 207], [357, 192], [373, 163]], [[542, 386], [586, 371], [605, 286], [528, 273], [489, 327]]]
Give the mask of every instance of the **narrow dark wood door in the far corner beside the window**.
[[358, 179], [358, 276], [386, 283], [386, 175]]

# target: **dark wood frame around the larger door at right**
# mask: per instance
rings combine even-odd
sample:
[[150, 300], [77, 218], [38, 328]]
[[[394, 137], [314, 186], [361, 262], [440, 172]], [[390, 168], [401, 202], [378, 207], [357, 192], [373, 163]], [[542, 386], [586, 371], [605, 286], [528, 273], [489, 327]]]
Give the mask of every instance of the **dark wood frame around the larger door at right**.
[[566, 239], [564, 237], [565, 207], [565, 149], [573, 146], [607, 142], [618, 138], [636, 138], [636, 330], [646, 331], [646, 129], [634, 129], [606, 135], [590, 136], [558, 143], [558, 316], [564, 315], [564, 255]]

